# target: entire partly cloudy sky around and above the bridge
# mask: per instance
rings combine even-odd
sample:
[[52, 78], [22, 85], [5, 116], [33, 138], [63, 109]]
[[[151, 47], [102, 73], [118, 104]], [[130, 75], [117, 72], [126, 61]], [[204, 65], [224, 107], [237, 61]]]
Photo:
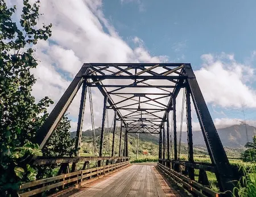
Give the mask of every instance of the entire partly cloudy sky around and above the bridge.
[[[7, 3], [22, 8], [22, 1]], [[256, 126], [255, 7], [254, 0], [42, 1], [38, 25], [52, 23], [52, 36], [35, 46], [39, 65], [32, 71], [38, 79], [32, 93], [56, 103], [83, 63], [191, 63], [217, 128], [244, 121]], [[68, 109], [72, 131], [80, 92]], [[103, 97], [97, 90], [93, 101], [98, 127]], [[90, 129], [88, 102], [86, 112], [84, 129]], [[198, 130], [195, 111], [192, 121]]]

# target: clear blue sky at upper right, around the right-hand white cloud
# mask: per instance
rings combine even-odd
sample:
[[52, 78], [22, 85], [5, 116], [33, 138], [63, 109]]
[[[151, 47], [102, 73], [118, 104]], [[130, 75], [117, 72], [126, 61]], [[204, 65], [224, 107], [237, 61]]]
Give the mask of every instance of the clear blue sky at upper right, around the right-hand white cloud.
[[[224, 52], [234, 54], [238, 62], [250, 59], [256, 49], [255, 7], [256, 1], [103, 2], [106, 18], [131, 46], [131, 38], [137, 36], [151, 54], [167, 55], [172, 62], [189, 62], [195, 70], [201, 67], [202, 54]], [[209, 105], [209, 110], [213, 118], [255, 117], [254, 109], [246, 106], [226, 109]]]

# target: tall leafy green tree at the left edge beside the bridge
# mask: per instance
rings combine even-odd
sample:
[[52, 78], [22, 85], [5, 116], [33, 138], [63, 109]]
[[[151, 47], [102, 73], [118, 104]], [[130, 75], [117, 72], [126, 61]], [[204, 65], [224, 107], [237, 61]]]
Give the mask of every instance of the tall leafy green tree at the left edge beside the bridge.
[[0, 196], [14, 194], [21, 181], [35, 180], [36, 170], [24, 157], [42, 155], [32, 140], [53, 103], [48, 97], [36, 103], [31, 95], [36, 79], [30, 72], [38, 65], [32, 45], [51, 36], [51, 24], [36, 26], [39, 1], [30, 5], [24, 0], [23, 5], [17, 25], [12, 19], [16, 7], [7, 8], [0, 0]]

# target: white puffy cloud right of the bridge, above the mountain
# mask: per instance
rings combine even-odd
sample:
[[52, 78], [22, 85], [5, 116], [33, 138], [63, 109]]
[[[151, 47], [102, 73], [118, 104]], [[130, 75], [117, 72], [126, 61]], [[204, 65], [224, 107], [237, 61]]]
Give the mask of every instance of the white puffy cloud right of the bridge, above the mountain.
[[201, 56], [203, 67], [195, 71], [197, 81], [208, 104], [228, 108], [256, 107], [256, 92], [246, 84], [254, 78], [254, 68], [222, 53]]

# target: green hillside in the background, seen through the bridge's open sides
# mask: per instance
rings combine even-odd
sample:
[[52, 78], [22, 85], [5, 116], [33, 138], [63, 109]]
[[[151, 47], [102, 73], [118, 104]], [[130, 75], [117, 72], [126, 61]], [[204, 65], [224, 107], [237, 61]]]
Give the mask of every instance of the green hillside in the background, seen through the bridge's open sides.
[[[115, 155], [118, 155], [119, 150], [119, 127], [117, 128], [117, 135], [115, 138]], [[225, 130], [225, 129], [222, 129]], [[230, 128], [227, 129], [230, 132]], [[101, 134], [101, 127], [96, 129], [96, 143], [97, 143], [97, 150], [100, 147], [100, 134]], [[199, 132], [199, 131], [195, 131]], [[205, 147], [203, 139], [197, 138], [197, 133], [193, 132], [193, 138], [195, 138], [193, 151], [195, 155], [208, 155], [207, 148]], [[195, 134], [195, 135], [194, 135]], [[183, 139], [185, 138], [186, 133], [184, 132]], [[71, 132], [71, 138], [75, 138], [76, 132]], [[94, 155], [94, 148], [93, 148], [93, 131], [86, 130], [82, 132], [82, 146], [81, 146], [81, 153], [84, 155]], [[179, 135], [178, 135], [179, 136]], [[222, 136], [222, 135], [221, 135]], [[109, 156], [111, 154], [111, 147], [112, 147], [112, 138], [113, 133], [110, 133], [110, 129], [105, 129], [105, 137], [104, 137], [104, 152], [105, 156]], [[136, 155], [136, 148], [137, 148], [137, 134], [129, 133], [128, 134], [128, 148], [129, 148], [129, 156], [135, 157]], [[142, 155], [143, 151], [148, 151], [148, 156], [158, 157], [158, 142], [159, 137], [158, 135], [152, 134], [139, 134], [139, 155]], [[224, 140], [226, 142], [226, 140]], [[225, 143], [224, 143], [225, 144]], [[122, 136], [122, 145], [123, 145], [123, 136]], [[238, 148], [239, 147], [239, 148]], [[242, 146], [238, 146], [237, 148], [234, 147], [225, 147], [226, 153], [228, 156], [232, 157], [239, 157], [241, 152], [244, 151]], [[181, 154], [187, 155], [187, 144], [185, 142], [181, 143], [180, 152]], [[123, 150], [122, 150], [123, 151]]]

